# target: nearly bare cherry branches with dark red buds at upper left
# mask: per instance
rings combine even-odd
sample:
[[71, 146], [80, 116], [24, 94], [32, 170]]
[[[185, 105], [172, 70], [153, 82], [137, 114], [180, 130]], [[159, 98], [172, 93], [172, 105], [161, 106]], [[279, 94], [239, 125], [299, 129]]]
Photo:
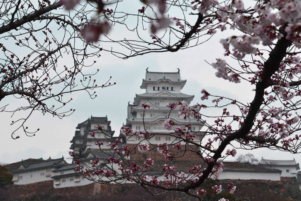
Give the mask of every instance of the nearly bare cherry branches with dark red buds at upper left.
[[[39, 130], [26, 126], [35, 111], [63, 118], [75, 111], [66, 108], [72, 100], [70, 93], [85, 90], [93, 99], [96, 88], [115, 84], [110, 77], [100, 83], [93, 78], [99, 70], [87, 68], [95, 66], [101, 47], [82, 30], [91, 29], [92, 15], [98, 20], [101, 3], [84, 2], [72, 12], [67, 10], [70, 4], [48, 0], [0, 3], [0, 111], [15, 117], [11, 122], [14, 139], [19, 138], [17, 130], [28, 136]], [[104, 26], [97, 31], [104, 33]], [[11, 98], [20, 100], [11, 105]]]

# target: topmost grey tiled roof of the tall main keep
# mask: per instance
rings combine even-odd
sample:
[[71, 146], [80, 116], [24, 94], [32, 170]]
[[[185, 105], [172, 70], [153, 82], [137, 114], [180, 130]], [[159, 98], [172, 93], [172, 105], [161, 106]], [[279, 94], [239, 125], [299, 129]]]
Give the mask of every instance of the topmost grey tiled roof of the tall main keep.
[[180, 83], [181, 89], [184, 87], [186, 80], [181, 80], [180, 69], [178, 72], [150, 72], [146, 69], [145, 79], [142, 80], [141, 89], [146, 89], [148, 83], [158, 83], [168, 81], [170, 83]]

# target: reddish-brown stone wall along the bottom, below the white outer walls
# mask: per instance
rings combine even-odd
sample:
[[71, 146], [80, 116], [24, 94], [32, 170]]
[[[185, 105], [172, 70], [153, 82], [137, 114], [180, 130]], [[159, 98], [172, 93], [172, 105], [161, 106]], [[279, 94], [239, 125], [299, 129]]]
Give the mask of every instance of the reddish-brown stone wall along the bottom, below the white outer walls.
[[[234, 194], [229, 194], [228, 184], [233, 183], [237, 188]], [[224, 193], [213, 195], [215, 199], [225, 197], [230, 200], [242, 201], [260, 200], [301, 200], [301, 192], [295, 177], [281, 177], [281, 181], [270, 180], [210, 180], [200, 187], [207, 190], [206, 201], [212, 196], [212, 186], [222, 185]], [[197, 190], [197, 189], [195, 189]], [[192, 190], [193, 191], [193, 190]], [[160, 192], [159, 190], [157, 192]], [[0, 188], [0, 200], [157, 200], [181, 201], [198, 200], [181, 192], [166, 192], [152, 196], [138, 184], [89, 184], [79, 187], [54, 188], [53, 181], [43, 181], [26, 185], [8, 185]], [[208, 199], [209, 200], [209, 199]]]

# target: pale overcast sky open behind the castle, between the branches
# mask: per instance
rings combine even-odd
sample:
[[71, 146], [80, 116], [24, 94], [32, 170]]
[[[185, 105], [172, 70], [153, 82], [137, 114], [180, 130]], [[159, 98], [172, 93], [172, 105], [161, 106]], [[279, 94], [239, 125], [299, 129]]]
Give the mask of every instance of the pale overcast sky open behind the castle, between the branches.
[[[114, 34], [121, 30], [111, 30]], [[147, 33], [149, 34], [149, 33]], [[174, 53], [152, 53], [127, 60], [119, 59], [107, 52], [102, 52], [100, 58], [93, 58], [99, 68], [97, 80], [106, 80], [112, 76], [112, 82], [117, 84], [112, 87], [97, 90], [97, 98], [91, 100], [85, 92], [72, 94], [73, 101], [68, 107], [76, 111], [70, 117], [58, 119], [51, 115], [42, 115], [36, 112], [28, 122], [29, 128], [40, 128], [35, 137], [26, 137], [20, 133], [17, 140], [11, 139], [10, 126], [13, 119], [10, 114], [1, 115], [1, 141], [0, 141], [0, 162], [12, 163], [28, 158], [59, 158], [62, 155], [69, 157], [70, 140], [72, 140], [75, 127], [78, 123], [85, 121], [92, 116], [106, 116], [111, 121], [112, 130], [119, 134], [119, 129], [126, 122], [127, 104], [133, 102], [135, 94], [144, 93], [140, 89], [142, 79], [145, 78], [145, 69], [159, 72], [176, 72], [180, 69], [181, 78], [187, 80], [182, 92], [194, 95], [191, 104], [201, 102], [200, 91], [206, 89], [209, 93], [228, 96], [233, 99], [247, 103], [252, 101], [253, 87], [249, 84], [234, 84], [215, 76], [215, 70], [205, 62], [212, 63], [216, 58], [222, 58], [224, 49], [219, 43], [221, 38], [230, 36], [230, 33], [223, 32], [216, 34], [211, 40], [195, 48], [180, 50]], [[231, 62], [231, 61], [227, 61]], [[235, 63], [234, 63], [235, 64]], [[10, 106], [16, 104], [16, 99], [6, 97], [4, 103]], [[238, 151], [247, 153], [248, 151]], [[295, 158], [301, 162], [300, 154], [290, 154], [267, 149], [252, 150], [256, 158], [260, 159], [282, 159], [290, 160]], [[230, 159], [230, 158], [229, 158]]]

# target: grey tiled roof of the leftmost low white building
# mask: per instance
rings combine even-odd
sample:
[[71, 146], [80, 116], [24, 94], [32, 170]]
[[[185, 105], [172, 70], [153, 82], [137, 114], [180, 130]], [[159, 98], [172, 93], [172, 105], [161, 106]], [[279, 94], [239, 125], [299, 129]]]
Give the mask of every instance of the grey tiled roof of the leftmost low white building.
[[65, 160], [64, 157], [60, 159], [49, 159], [42, 161], [42, 162], [36, 162], [36, 163], [28, 163], [28, 162], [21, 162], [21, 166], [24, 168], [22, 169], [16, 169], [11, 172], [21, 172], [21, 171], [27, 171], [27, 170], [33, 170], [33, 169], [42, 169], [42, 168], [49, 168], [49, 167], [61, 167], [63, 165], [68, 164]]

